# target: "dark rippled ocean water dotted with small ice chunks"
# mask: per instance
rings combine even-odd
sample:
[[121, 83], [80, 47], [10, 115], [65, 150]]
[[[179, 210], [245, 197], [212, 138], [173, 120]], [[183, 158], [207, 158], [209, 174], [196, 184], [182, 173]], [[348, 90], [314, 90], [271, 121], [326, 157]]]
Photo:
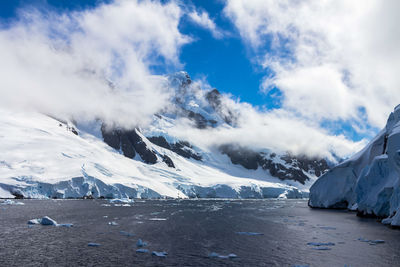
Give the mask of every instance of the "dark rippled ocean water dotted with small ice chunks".
[[[0, 266], [400, 266], [399, 230], [347, 211], [313, 210], [304, 200], [21, 202], [0, 205]], [[46, 215], [74, 226], [28, 226]], [[139, 238], [149, 253], [136, 252]]]

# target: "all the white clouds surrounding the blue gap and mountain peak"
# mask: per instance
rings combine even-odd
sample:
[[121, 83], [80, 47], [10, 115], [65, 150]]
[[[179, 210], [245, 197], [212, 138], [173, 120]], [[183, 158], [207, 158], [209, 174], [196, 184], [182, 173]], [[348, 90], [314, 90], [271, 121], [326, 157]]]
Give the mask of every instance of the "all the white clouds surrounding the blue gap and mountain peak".
[[[360, 10], [347, 1], [327, 3], [227, 1], [224, 12], [258, 55], [258, 64], [274, 71], [263, 88], [278, 87], [282, 107], [263, 110], [224, 96], [239, 114], [236, 128], [204, 131], [182, 122], [172, 133], [205, 148], [232, 142], [328, 157], [358, 150], [365, 141], [333, 135], [321, 122], [359, 122], [364, 112], [372, 125], [382, 124], [400, 102], [398, 78], [392, 77], [400, 62], [395, 61], [399, 40], [390, 40], [391, 31], [381, 31], [382, 25], [367, 21], [365, 27], [369, 15], [386, 12], [372, 1]], [[393, 28], [395, 14], [385, 15], [380, 23]], [[174, 92], [154, 69], [182, 67], [180, 49], [192, 41], [178, 29], [183, 16], [214, 38], [226, 37], [205, 11], [174, 1], [120, 0], [62, 14], [21, 10], [18, 20], [0, 26], [0, 106], [145, 127], [171, 104]], [[370, 28], [379, 40], [370, 36]], [[267, 39], [273, 53], [259, 53]]]

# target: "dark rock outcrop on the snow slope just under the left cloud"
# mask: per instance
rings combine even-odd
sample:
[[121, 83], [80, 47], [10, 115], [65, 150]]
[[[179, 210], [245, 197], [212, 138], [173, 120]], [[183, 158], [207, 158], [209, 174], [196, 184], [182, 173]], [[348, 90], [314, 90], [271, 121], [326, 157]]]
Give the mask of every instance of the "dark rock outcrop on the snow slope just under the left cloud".
[[157, 155], [149, 149], [143, 139], [138, 135], [137, 129], [126, 131], [121, 129], [108, 130], [106, 125], [101, 126], [104, 142], [114, 149], [121, 149], [124, 156], [134, 158], [136, 153], [145, 163], [155, 164]]

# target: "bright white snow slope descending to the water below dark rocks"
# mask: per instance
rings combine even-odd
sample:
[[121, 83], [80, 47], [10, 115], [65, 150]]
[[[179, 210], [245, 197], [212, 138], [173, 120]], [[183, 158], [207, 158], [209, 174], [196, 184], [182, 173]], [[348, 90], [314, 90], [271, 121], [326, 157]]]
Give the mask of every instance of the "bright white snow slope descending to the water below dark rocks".
[[224, 155], [208, 156], [204, 161], [186, 159], [145, 139], [153, 150], [169, 156], [176, 168], [161, 160], [148, 165], [126, 158], [82, 128], [76, 135], [71, 127], [71, 123], [39, 113], [0, 110], [1, 195], [120, 199], [303, 196], [277, 178], [258, 178], [265, 177], [265, 172], [258, 176], [257, 170], [232, 164], [221, 167], [221, 162], [229, 160]]

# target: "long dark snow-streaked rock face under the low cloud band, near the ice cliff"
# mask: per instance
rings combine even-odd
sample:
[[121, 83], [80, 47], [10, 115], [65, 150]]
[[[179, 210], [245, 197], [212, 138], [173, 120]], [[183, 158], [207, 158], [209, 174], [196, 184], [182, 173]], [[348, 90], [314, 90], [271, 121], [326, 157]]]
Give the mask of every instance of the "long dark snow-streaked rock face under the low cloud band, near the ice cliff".
[[302, 184], [309, 180], [305, 172], [314, 172], [316, 176], [320, 176], [329, 169], [324, 159], [309, 159], [305, 156], [294, 157], [287, 154], [280, 158], [286, 163], [283, 165], [274, 161], [276, 157], [274, 153], [266, 155], [237, 145], [223, 145], [220, 147], [220, 151], [226, 154], [233, 164], [242, 165], [249, 170], [256, 170], [261, 167], [281, 180], [294, 180]]

